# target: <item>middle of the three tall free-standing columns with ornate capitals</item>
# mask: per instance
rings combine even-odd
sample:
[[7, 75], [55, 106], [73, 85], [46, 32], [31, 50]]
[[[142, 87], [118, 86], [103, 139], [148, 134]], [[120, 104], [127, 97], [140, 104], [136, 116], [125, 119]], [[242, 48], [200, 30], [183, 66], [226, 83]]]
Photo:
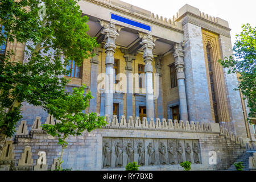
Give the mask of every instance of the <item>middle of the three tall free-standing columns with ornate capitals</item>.
[[150, 34], [141, 34], [139, 37], [142, 39], [141, 44], [143, 53], [143, 59], [145, 63], [145, 83], [146, 83], [146, 107], [147, 107], [147, 119], [155, 118], [154, 109], [154, 94], [153, 94], [153, 81], [152, 81], [152, 49], [154, 49], [156, 38], [153, 38]]

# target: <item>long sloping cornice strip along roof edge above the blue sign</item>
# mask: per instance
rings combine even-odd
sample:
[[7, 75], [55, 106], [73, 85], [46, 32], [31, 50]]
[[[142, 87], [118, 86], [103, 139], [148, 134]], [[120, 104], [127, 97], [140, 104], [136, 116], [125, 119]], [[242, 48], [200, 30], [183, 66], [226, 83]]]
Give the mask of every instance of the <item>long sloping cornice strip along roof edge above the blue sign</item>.
[[167, 24], [163, 24], [163, 23], [160, 23], [160, 22], [156, 22], [156, 21], [154, 21], [154, 20], [152, 20], [150, 18], [146, 18], [146, 17], [140, 16], [140, 15], [137, 15], [137, 14], [133, 14], [133, 13], [124, 11], [124, 10], [119, 9], [117, 7], [108, 5], [108, 4], [104, 3], [104, 2], [100, 2], [100, 1], [96, 1], [96, 0], [83, 0], [83, 1], [88, 1], [88, 2], [94, 3], [96, 5], [100, 5], [100, 6], [103, 6], [105, 8], [108, 8], [110, 10], [114, 10], [114, 11], [117, 11], [119, 13], [122, 13], [122, 14], [125, 14], [125, 15], [129, 15], [129, 16], [133, 16], [134, 18], [141, 19], [141, 20], [144, 20], [144, 21], [149, 22], [149, 23], [154, 23], [154, 24], [156, 24], [158, 26], [161, 26], [161, 27], [168, 28], [170, 30], [180, 32], [182, 34], [184, 32], [183, 30], [180, 30], [178, 28], [175, 28], [175, 27], [172, 27], [172, 26], [168, 26]]

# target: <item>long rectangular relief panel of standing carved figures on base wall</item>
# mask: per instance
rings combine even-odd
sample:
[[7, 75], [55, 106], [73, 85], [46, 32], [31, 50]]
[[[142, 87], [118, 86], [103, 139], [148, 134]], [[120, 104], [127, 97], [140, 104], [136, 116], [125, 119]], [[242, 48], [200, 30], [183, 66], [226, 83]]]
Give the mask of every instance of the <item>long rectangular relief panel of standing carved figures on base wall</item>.
[[200, 164], [197, 139], [104, 137], [102, 143], [102, 168], [121, 168], [131, 162], [139, 166], [179, 165], [184, 161]]

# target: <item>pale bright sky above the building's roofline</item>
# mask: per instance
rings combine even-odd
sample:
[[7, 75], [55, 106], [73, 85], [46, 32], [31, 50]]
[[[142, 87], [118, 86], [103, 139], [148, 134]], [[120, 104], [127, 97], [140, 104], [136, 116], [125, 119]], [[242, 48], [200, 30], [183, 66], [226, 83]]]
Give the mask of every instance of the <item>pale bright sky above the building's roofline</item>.
[[172, 18], [185, 4], [198, 8], [205, 14], [219, 17], [229, 22], [232, 44], [236, 41], [236, 34], [242, 31], [242, 24], [256, 25], [255, 0], [121, 0], [131, 5], [151, 11], [151, 13]]

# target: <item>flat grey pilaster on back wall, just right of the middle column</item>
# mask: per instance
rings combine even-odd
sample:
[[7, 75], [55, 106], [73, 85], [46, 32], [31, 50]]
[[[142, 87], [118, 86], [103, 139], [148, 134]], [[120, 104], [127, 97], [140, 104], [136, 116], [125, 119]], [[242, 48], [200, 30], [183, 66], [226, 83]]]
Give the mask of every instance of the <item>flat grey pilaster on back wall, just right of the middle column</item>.
[[158, 118], [160, 119], [163, 119], [162, 58], [163, 56], [160, 55], [155, 59], [155, 69], [156, 73], [159, 75]]

